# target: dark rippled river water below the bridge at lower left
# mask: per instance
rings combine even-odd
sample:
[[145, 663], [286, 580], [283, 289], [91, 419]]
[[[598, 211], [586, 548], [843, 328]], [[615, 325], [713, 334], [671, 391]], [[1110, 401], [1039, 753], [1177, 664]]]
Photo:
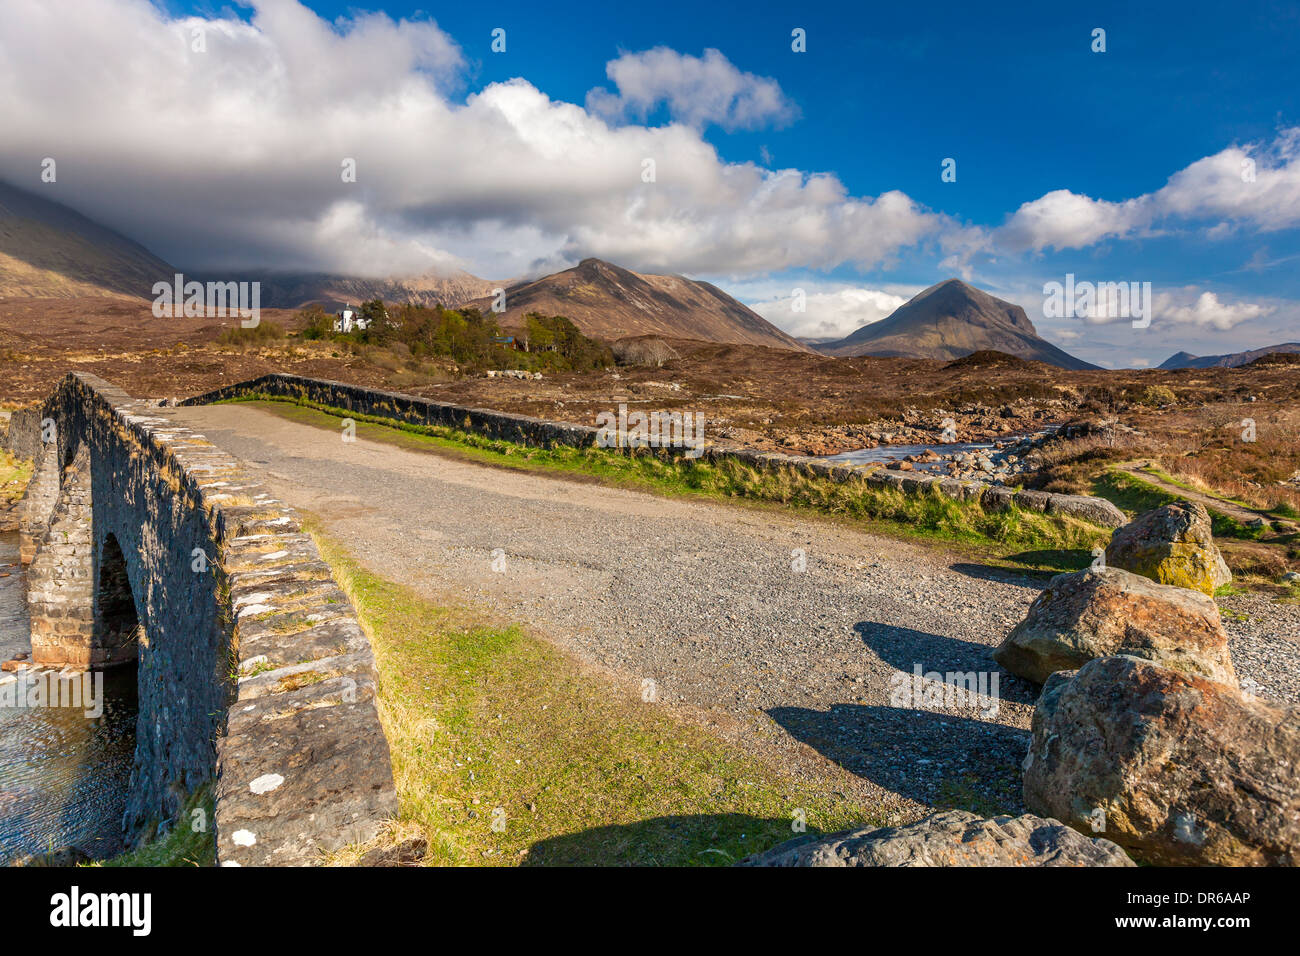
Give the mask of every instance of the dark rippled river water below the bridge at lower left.
[[[8, 575], [0, 576], [0, 659], [8, 661], [31, 650], [17, 533], [0, 532], [0, 575]], [[104, 675], [99, 717], [84, 706], [26, 706], [18, 680], [0, 674], [0, 865], [68, 845], [94, 857], [120, 852], [135, 669]]]

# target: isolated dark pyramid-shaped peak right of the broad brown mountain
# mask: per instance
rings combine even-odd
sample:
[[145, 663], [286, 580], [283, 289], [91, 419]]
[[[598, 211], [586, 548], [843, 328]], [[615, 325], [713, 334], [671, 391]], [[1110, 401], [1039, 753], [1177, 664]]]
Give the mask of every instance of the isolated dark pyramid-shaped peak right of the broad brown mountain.
[[888, 317], [863, 325], [837, 342], [818, 346], [827, 355], [884, 355], [959, 359], [1000, 351], [1060, 368], [1097, 368], [1039, 337], [1024, 310], [949, 278], [901, 304]]

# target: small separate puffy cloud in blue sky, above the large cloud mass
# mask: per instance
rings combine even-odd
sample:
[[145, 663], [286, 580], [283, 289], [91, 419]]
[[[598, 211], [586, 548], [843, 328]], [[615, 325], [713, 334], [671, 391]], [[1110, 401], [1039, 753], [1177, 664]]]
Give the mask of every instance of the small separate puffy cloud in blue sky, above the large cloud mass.
[[688, 126], [715, 124], [727, 130], [784, 126], [798, 116], [796, 105], [768, 77], [738, 70], [716, 49], [702, 57], [655, 47], [623, 53], [604, 65], [618, 92], [597, 87], [586, 107], [608, 120], [645, 120], [660, 105]]

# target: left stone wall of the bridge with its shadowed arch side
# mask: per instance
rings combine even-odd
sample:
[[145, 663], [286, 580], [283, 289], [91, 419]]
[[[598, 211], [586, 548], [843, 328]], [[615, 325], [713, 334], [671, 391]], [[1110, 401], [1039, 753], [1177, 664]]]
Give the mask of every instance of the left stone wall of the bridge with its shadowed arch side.
[[79, 373], [14, 412], [32, 661], [136, 669], [129, 834], [216, 777], [222, 865], [313, 862], [396, 809], [369, 641], [298, 515], [172, 414]]

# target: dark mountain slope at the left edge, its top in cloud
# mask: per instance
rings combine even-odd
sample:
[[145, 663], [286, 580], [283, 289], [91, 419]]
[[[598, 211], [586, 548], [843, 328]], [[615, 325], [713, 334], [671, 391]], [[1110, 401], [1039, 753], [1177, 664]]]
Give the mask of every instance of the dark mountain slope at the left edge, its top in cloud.
[[177, 269], [120, 233], [35, 193], [0, 182], [0, 298], [151, 299]]

